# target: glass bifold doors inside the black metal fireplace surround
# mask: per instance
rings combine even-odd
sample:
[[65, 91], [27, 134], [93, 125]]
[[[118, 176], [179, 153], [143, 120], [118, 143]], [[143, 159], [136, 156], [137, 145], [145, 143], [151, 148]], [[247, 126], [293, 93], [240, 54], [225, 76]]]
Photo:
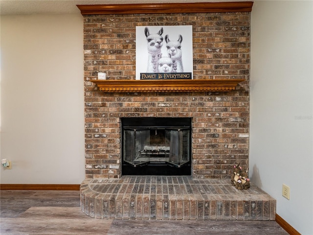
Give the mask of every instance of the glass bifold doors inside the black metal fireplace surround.
[[125, 127], [124, 162], [135, 166], [167, 164], [180, 167], [190, 162], [189, 128]]

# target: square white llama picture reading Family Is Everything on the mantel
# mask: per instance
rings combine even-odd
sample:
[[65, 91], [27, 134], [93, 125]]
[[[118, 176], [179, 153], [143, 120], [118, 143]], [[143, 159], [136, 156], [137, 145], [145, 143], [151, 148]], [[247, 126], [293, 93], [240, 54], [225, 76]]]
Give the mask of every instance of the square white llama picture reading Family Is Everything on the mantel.
[[136, 26], [136, 80], [193, 79], [192, 25]]

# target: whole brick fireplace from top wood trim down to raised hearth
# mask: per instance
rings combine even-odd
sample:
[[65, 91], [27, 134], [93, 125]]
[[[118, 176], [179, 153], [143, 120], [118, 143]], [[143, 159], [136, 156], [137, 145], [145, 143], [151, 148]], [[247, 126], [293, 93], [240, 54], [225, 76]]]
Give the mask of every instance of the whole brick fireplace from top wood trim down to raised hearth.
[[[234, 164], [247, 167], [249, 161], [252, 2], [174, 5], [78, 6], [84, 16], [82, 211], [95, 218], [274, 219], [273, 198], [253, 184], [244, 191], [230, 184]], [[194, 81], [240, 82], [233, 90], [175, 90], [171, 85], [132, 90], [109, 84], [134, 82], [135, 27], [152, 25], [192, 25]], [[107, 83], [97, 83], [99, 71], [107, 73]], [[127, 176], [122, 168], [124, 118], [189, 118], [190, 174]]]

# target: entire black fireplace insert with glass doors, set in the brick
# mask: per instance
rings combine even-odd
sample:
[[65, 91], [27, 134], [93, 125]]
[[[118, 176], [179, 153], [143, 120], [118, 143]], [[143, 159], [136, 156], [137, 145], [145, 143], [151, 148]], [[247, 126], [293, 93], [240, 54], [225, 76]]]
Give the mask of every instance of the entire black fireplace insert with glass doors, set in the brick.
[[191, 175], [191, 118], [121, 118], [122, 175]]

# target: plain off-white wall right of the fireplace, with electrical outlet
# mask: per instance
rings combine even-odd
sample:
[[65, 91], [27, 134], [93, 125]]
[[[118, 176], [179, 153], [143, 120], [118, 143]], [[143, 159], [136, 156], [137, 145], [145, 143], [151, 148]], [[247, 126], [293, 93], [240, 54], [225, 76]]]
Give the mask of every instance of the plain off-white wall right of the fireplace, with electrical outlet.
[[312, 9], [255, 1], [251, 12], [250, 177], [302, 235], [313, 234]]

